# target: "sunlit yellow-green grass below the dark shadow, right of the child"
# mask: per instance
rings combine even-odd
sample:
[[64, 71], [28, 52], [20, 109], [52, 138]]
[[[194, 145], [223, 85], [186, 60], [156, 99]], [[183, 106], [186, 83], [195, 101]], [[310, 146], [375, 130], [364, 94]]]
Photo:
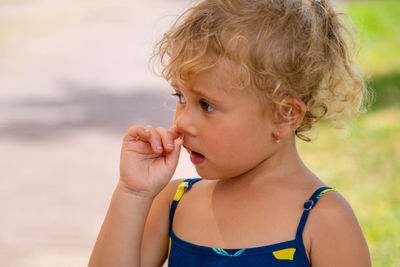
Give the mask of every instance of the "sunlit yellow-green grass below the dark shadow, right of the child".
[[300, 143], [306, 164], [352, 205], [371, 250], [373, 266], [400, 263], [400, 109], [361, 116], [350, 129], [317, 126]]

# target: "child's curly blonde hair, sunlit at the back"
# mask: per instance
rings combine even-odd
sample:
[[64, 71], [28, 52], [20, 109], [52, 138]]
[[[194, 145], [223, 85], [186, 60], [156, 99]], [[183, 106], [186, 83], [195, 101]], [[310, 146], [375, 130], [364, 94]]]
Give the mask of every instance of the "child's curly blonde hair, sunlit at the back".
[[183, 13], [154, 55], [167, 79], [189, 80], [223, 59], [240, 66], [241, 86], [255, 88], [288, 116], [285, 99], [307, 107], [296, 130], [321, 118], [363, 111], [367, 90], [352, 64], [352, 33], [328, 0], [202, 0]]

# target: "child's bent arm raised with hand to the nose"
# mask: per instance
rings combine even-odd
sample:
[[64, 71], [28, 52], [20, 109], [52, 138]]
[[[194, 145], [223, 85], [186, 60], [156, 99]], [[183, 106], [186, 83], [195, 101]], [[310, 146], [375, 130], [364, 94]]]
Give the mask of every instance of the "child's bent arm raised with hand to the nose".
[[[154, 244], [152, 257], [158, 258], [158, 261], [165, 258], [163, 244], [168, 240], [168, 231], [165, 230], [168, 229], [166, 203], [172, 186], [167, 186], [165, 190], [163, 188], [172, 178], [178, 162], [182, 143], [178, 137], [175, 128], [166, 131], [162, 128], [134, 126], [127, 131], [121, 149], [120, 181], [93, 249], [89, 267], [144, 266], [141, 264], [141, 255], [151, 253], [146, 242], [146, 253], [142, 253], [142, 237], [152, 205], [153, 215], [150, 217], [154, 218], [159, 213], [161, 223], [165, 226], [157, 229], [159, 224], [152, 223], [160, 235], [146, 236], [151, 240], [158, 239], [161, 244]], [[159, 194], [161, 190], [163, 192]], [[148, 259], [142, 259], [142, 262], [148, 262]]]

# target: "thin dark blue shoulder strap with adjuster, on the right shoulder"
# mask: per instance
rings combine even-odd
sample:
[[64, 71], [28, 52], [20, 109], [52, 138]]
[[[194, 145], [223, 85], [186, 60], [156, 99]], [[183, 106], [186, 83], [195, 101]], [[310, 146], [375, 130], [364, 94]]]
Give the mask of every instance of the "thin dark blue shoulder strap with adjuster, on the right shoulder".
[[325, 193], [327, 193], [329, 191], [334, 191], [334, 190], [335, 189], [333, 189], [332, 187], [318, 188], [312, 194], [310, 199], [307, 200], [306, 202], [304, 202], [304, 211], [303, 211], [303, 214], [301, 215], [299, 226], [297, 227], [297, 232], [296, 232], [296, 243], [297, 243], [298, 248], [302, 248], [300, 250], [305, 258], [307, 258], [307, 253], [306, 253], [306, 250], [304, 248], [304, 243], [303, 243], [303, 230], [304, 230], [304, 226], [306, 225], [308, 215], [310, 214], [311, 209], [313, 207], [315, 207], [315, 205], [317, 204], [318, 199], [320, 199], [320, 197], [322, 197]]

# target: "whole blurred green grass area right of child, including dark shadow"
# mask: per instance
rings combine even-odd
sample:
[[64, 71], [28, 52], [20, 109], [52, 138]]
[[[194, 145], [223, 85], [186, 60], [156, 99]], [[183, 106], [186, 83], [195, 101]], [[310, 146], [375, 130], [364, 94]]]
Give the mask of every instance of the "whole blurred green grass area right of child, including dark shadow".
[[299, 142], [305, 163], [352, 205], [374, 267], [400, 266], [400, 1], [349, 1], [357, 64], [375, 99], [347, 130], [321, 122]]

